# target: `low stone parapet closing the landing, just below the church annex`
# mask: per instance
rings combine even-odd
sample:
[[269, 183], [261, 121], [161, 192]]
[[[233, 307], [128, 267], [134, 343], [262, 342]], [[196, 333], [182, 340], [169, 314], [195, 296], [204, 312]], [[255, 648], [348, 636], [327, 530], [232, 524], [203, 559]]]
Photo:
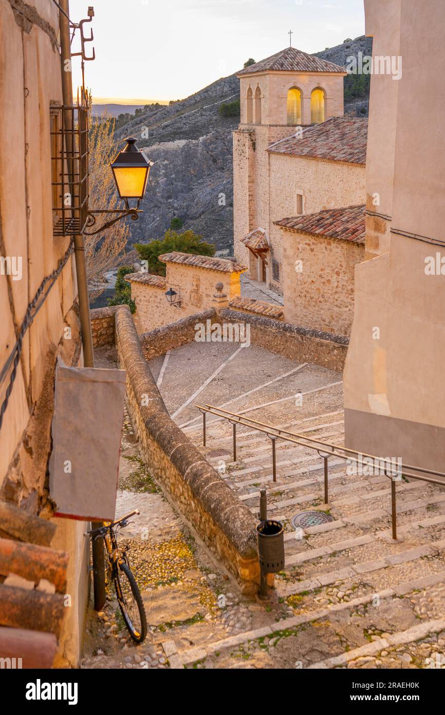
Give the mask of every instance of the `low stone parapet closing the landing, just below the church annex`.
[[249, 315], [239, 310], [224, 309], [219, 316], [227, 322], [249, 323], [250, 340], [254, 345], [284, 355], [289, 360], [316, 363], [339, 373], [343, 371], [349, 345], [349, 338], [344, 335]]

